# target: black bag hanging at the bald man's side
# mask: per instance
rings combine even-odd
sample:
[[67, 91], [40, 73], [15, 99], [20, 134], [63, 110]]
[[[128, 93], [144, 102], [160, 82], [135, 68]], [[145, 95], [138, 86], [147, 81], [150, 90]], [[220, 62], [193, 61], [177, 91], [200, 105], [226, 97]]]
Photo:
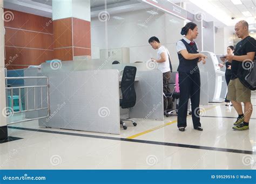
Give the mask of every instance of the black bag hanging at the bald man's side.
[[241, 83], [249, 88], [250, 90], [256, 90], [256, 60], [253, 62], [247, 61], [242, 62], [242, 67], [240, 67], [240, 72], [238, 75]]

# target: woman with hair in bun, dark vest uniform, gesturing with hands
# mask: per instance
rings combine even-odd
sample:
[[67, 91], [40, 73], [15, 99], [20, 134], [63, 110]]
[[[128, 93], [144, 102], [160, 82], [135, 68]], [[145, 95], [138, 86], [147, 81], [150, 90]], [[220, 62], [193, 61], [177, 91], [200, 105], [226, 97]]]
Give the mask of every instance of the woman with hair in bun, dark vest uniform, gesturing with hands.
[[180, 99], [178, 107], [178, 128], [185, 131], [187, 126], [187, 103], [191, 99], [192, 120], [194, 129], [203, 131], [199, 117], [200, 101], [200, 73], [198, 62], [205, 64], [206, 56], [199, 53], [197, 44], [193, 41], [198, 36], [197, 24], [187, 23], [181, 30], [181, 35], [185, 37], [177, 42], [177, 52], [179, 57], [179, 88]]

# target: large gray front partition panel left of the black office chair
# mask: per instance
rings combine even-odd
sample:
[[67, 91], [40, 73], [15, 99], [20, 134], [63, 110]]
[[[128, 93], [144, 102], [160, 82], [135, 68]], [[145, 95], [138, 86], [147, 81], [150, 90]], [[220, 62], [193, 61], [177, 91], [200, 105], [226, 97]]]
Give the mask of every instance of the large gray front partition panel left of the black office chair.
[[50, 117], [39, 126], [120, 134], [117, 70], [44, 72], [50, 81]]

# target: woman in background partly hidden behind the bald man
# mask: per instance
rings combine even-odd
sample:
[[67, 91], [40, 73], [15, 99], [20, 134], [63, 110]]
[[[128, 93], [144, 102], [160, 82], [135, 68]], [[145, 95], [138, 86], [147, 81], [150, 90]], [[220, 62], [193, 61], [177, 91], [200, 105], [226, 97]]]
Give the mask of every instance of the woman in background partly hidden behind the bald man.
[[[232, 45], [228, 46], [227, 47], [227, 54], [233, 54], [234, 52], [234, 47]], [[225, 71], [225, 79], [226, 79], [226, 83], [227, 83], [227, 86], [228, 86], [228, 83], [230, 83], [230, 79], [231, 79], [231, 76], [232, 76], [232, 72], [231, 72], [231, 63], [229, 62], [223, 62], [223, 64], [219, 64], [219, 67], [224, 67], [224, 64], [226, 66], [226, 71]], [[227, 100], [227, 96], [226, 96], [226, 99], [225, 99], [225, 103], [226, 103], [226, 106], [230, 106], [230, 100]]]

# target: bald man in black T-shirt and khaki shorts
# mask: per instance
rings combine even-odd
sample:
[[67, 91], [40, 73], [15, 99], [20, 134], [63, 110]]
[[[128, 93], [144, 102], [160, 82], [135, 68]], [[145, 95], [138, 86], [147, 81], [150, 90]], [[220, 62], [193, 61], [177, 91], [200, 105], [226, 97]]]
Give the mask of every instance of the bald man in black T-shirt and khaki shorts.
[[[252, 115], [251, 90], [245, 87], [238, 78], [241, 70], [246, 70], [244, 62], [252, 62], [256, 52], [255, 39], [249, 36], [248, 23], [239, 21], [235, 24], [235, 33], [242, 40], [235, 46], [234, 56], [226, 55], [225, 59], [231, 62], [231, 81], [228, 84], [227, 99], [232, 101], [235, 110], [238, 113], [237, 121], [234, 123], [234, 130], [248, 130], [249, 121]], [[248, 69], [247, 69], [248, 70]], [[242, 112], [242, 105], [245, 109]]]

